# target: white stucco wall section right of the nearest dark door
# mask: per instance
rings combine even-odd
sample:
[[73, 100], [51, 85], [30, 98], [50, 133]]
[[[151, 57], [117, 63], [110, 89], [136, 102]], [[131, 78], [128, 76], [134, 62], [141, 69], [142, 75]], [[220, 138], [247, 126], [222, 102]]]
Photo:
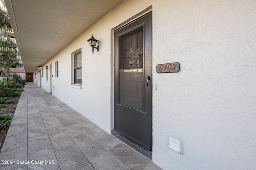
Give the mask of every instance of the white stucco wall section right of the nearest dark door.
[[[178, 61], [181, 71], [153, 70], [153, 161], [165, 169], [255, 168], [256, 1], [164, 6], [153, 16], [153, 66]], [[182, 155], [168, 150], [168, 135], [183, 141]]]

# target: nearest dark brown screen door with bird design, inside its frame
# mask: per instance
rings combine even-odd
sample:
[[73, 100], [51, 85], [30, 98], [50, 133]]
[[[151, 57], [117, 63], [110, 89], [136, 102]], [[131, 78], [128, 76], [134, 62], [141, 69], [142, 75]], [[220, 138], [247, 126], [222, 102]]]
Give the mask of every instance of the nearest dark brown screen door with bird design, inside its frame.
[[152, 150], [151, 13], [116, 30], [114, 129]]

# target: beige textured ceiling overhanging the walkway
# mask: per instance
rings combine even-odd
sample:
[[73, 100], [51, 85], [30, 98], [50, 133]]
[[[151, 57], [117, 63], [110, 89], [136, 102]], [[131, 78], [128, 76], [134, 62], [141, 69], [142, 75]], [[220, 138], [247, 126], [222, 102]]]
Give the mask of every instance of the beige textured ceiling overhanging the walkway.
[[34, 72], [123, 1], [5, 0], [26, 72]]

